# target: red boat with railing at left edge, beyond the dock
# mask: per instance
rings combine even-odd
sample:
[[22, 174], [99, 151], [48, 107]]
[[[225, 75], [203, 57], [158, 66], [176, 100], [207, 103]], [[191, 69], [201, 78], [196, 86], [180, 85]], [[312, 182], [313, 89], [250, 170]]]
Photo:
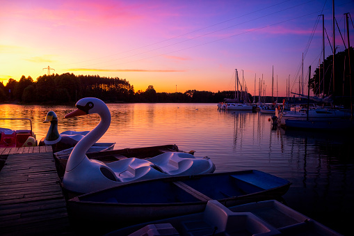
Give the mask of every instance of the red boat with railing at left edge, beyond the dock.
[[0, 127], [0, 148], [21, 148], [36, 146], [37, 140], [32, 130], [32, 121], [29, 118], [0, 118], [0, 120], [28, 120], [30, 129], [9, 129]]

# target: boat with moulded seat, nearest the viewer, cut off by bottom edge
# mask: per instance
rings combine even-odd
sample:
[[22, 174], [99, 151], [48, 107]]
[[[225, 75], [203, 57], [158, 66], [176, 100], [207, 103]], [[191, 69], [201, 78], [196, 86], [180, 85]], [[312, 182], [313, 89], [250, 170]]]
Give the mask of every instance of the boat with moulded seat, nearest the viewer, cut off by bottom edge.
[[[163, 232], [162, 234], [158, 234]], [[130, 235], [340, 235], [277, 200], [225, 207], [209, 200], [204, 212], [114, 230]], [[164, 234], [166, 233], [166, 234]]]

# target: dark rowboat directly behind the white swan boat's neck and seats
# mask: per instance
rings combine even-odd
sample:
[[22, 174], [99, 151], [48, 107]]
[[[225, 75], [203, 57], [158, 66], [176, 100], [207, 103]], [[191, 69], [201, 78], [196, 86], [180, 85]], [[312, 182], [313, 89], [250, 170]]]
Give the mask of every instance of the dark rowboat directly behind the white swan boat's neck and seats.
[[[122, 159], [127, 159], [130, 157], [148, 159], [166, 152], [183, 152], [183, 151], [179, 150], [178, 146], [173, 144], [173, 145], [157, 145], [157, 146], [150, 146], [150, 147], [143, 147], [143, 148], [124, 148], [118, 150], [104, 150], [104, 151], [102, 150], [99, 152], [95, 152], [95, 151], [90, 152], [89, 149], [89, 152], [86, 152], [86, 156], [89, 159], [97, 159], [100, 162], [110, 163]], [[61, 153], [57, 152], [56, 155], [54, 155], [54, 160], [56, 163], [56, 171], [58, 171], [58, 176], [60, 178], [64, 176], [67, 159], [69, 159], [70, 153], [61, 155]], [[190, 151], [188, 153], [194, 154], [194, 151]]]

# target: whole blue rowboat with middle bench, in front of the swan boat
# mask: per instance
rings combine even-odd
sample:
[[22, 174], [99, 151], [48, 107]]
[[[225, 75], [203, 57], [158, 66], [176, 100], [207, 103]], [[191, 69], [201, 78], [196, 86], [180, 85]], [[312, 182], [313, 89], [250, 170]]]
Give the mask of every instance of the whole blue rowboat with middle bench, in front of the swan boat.
[[111, 231], [202, 212], [209, 200], [230, 207], [275, 199], [284, 195], [290, 184], [288, 180], [255, 170], [168, 177], [76, 196], [67, 200], [67, 210], [79, 228], [89, 227], [91, 231], [99, 226], [98, 230]]

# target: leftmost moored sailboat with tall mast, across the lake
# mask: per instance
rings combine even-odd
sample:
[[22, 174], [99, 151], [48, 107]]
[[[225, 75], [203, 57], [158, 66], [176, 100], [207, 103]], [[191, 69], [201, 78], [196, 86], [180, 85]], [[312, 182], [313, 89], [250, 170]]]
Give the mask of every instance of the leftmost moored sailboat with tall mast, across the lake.
[[[223, 102], [218, 103], [218, 109], [225, 109], [225, 110], [236, 110], [236, 111], [252, 111], [253, 106], [251, 104], [243, 103], [243, 100], [240, 100], [239, 97], [239, 74], [235, 73], [235, 97], [232, 98], [224, 98]], [[237, 84], [237, 90], [236, 90]], [[241, 90], [241, 93], [243, 91]]]

